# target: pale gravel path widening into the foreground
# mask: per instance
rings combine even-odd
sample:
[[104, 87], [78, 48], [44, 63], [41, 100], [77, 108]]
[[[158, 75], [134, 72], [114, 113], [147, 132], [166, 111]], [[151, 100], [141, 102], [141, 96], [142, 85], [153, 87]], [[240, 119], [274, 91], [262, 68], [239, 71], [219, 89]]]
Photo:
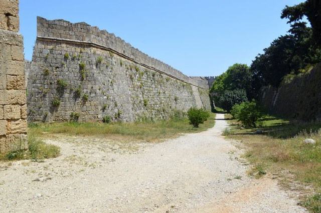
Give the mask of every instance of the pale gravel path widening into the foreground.
[[162, 143], [47, 140], [55, 159], [0, 163], [0, 212], [306, 212], [276, 180], [246, 175], [241, 150], [207, 131]]

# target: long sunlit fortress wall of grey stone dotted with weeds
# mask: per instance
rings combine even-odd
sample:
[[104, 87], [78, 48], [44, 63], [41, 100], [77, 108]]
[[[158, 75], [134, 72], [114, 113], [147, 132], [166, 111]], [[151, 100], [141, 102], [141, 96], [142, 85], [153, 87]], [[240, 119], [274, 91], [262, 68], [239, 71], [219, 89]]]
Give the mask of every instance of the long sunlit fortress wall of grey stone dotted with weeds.
[[195, 80], [86, 23], [38, 17], [28, 75], [29, 121], [134, 121], [210, 110], [208, 81]]

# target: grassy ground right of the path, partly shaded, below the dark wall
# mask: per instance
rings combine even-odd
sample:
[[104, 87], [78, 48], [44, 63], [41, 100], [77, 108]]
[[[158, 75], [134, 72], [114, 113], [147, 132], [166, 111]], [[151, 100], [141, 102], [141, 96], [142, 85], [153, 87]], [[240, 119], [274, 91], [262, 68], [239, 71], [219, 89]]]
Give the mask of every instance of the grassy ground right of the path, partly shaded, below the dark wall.
[[[263, 127], [245, 129], [230, 114], [225, 118], [231, 127], [224, 134], [247, 147], [244, 156], [253, 165], [250, 175], [273, 174], [284, 187], [303, 192], [301, 205], [310, 212], [321, 212], [320, 123], [294, 123], [268, 116]], [[258, 129], [263, 133], [257, 134]], [[316, 144], [304, 144], [306, 138], [314, 139]]]

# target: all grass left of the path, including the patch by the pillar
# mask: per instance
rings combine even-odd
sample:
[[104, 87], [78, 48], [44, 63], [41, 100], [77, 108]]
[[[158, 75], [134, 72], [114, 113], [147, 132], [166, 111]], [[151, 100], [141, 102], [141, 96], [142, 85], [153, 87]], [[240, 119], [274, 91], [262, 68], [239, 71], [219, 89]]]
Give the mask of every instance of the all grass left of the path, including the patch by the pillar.
[[28, 127], [29, 150], [10, 152], [0, 155], [0, 160], [12, 159], [43, 159], [59, 155], [59, 147], [45, 144], [42, 139], [53, 136], [78, 135], [108, 137], [120, 141], [161, 141], [174, 138], [181, 133], [201, 132], [213, 127], [215, 114], [199, 128], [189, 124], [187, 118], [172, 118], [170, 120], [141, 121], [133, 123], [99, 123], [99, 122], [65, 122], [65, 123], [38, 123]]

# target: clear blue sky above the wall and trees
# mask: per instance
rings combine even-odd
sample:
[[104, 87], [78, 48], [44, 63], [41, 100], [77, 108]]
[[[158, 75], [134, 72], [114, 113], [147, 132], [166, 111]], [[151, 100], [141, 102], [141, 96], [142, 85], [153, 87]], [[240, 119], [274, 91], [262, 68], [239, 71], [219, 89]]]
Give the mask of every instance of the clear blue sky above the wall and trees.
[[20, 31], [31, 60], [36, 17], [86, 22], [189, 76], [217, 76], [288, 31], [280, 19], [297, 0], [20, 0]]

